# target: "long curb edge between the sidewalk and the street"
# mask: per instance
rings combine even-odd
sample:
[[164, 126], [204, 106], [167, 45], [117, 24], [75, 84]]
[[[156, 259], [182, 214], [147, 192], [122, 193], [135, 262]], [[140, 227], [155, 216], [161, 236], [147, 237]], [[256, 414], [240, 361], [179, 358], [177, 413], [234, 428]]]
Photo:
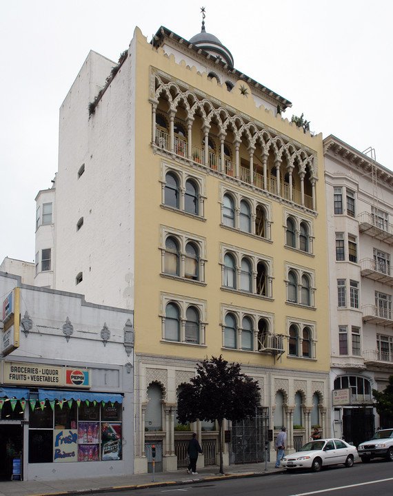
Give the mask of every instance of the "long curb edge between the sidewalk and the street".
[[152, 487], [165, 487], [165, 486], [186, 486], [188, 484], [202, 484], [203, 482], [209, 481], [219, 481], [219, 480], [230, 480], [230, 479], [242, 479], [246, 477], [264, 477], [266, 475], [272, 475], [275, 473], [282, 473], [284, 469], [276, 471], [266, 471], [266, 472], [245, 472], [239, 474], [225, 473], [223, 475], [213, 475], [212, 477], [203, 477], [203, 479], [181, 479], [179, 481], [163, 481], [163, 482], [146, 482], [145, 484], [130, 484], [128, 486], [107, 486], [102, 488], [92, 488], [92, 489], [81, 489], [81, 490], [66, 490], [59, 491], [56, 493], [41, 493], [29, 496], [68, 496], [68, 495], [91, 495], [97, 493], [108, 493], [108, 492], [120, 492], [123, 490], [137, 490], [137, 489], [148, 489]]

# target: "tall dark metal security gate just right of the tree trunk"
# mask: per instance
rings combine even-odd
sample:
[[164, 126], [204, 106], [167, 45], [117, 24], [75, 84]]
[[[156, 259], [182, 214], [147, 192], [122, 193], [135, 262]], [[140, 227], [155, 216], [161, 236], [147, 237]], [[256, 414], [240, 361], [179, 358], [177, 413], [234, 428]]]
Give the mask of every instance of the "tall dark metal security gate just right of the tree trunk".
[[232, 454], [235, 464], [265, 461], [268, 429], [269, 409], [267, 406], [258, 406], [254, 417], [232, 423]]

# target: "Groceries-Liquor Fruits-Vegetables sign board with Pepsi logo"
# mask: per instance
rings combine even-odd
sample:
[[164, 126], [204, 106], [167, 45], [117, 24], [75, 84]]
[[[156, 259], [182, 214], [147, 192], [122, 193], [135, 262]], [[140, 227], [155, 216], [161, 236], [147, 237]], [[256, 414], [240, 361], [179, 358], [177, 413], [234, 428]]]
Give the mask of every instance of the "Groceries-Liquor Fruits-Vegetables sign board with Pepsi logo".
[[21, 362], [4, 362], [3, 383], [23, 386], [71, 386], [90, 388], [91, 372], [88, 369]]

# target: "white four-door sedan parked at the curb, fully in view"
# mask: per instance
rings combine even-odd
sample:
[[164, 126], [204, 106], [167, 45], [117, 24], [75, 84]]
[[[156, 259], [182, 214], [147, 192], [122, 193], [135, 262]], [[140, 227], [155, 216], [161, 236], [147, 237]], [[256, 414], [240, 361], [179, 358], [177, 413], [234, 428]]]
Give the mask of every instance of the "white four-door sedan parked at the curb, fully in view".
[[296, 453], [285, 455], [281, 459], [284, 468], [311, 468], [319, 472], [323, 466], [344, 464], [352, 467], [357, 461], [358, 453], [354, 446], [343, 440], [323, 439], [310, 441]]

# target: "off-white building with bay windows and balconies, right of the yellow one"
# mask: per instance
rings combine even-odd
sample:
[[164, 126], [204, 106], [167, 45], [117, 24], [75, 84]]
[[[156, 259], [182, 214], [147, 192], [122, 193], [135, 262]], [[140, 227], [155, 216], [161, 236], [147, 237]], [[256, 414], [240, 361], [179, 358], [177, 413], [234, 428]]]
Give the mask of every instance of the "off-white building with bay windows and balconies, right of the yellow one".
[[330, 287], [332, 430], [359, 444], [380, 418], [372, 389], [393, 373], [393, 172], [335, 136], [323, 141]]

